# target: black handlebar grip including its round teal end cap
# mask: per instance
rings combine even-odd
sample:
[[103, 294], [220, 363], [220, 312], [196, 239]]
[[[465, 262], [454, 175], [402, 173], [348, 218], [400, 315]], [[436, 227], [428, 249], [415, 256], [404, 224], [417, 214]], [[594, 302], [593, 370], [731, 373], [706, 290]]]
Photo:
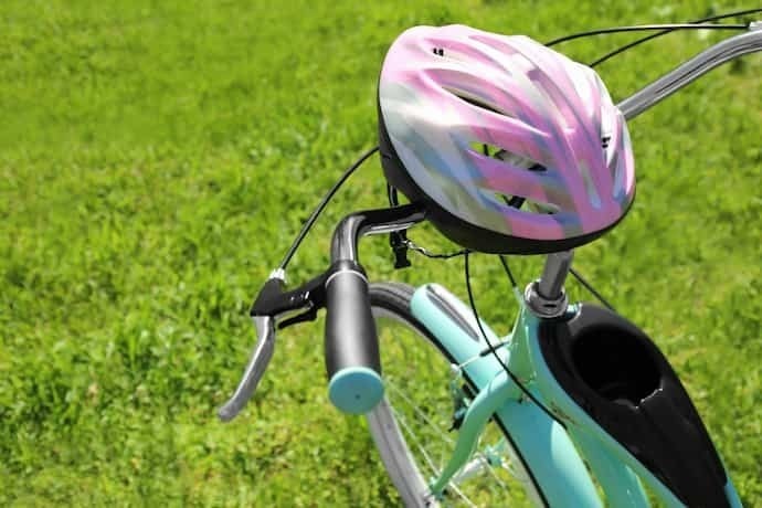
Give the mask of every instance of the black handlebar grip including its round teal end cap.
[[345, 413], [367, 413], [383, 398], [368, 279], [348, 260], [335, 263], [326, 279], [326, 369], [328, 396]]

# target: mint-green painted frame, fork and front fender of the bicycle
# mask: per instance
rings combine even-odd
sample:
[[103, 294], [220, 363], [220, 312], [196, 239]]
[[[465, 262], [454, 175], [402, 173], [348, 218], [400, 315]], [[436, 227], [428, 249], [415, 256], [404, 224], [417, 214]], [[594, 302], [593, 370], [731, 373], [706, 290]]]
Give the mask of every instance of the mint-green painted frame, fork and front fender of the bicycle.
[[[436, 298], [432, 298], [432, 294]], [[536, 399], [551, 409], [552, 416], [527, 400], [493, 354], [484, 354], [488, 346], [470, 308], [437, 285], [422, 286], [413, 296], [413, 315], [436, 336], [459, 372], [477, 391], [459, 428], [453, 457], [432, 481], [432, 493], [442, 494], [449, 479], [466, 464], [484, 426], [494, 417], [546, 505], [603, 506], [594, 477], [610, 506], [649, 506], [641, 480], [664, 505], [685, 506], [558, 384], [540, 351], [539, 328], [543, 319], [528, 309], [521, 295], [517, 296], [519, 314], [508, 337], [498, 338], [484, 322], [481, 329], [506, 366]], [[579, 305], [569, 306], [568, 317], [579, 310]], [[464, 322], [469, 324], [470, 330], [464, 329]], [[726, 477], [729, 478], [727, 474]], [[724, 491], [730, 506], [741, 506], [730, 479]]]

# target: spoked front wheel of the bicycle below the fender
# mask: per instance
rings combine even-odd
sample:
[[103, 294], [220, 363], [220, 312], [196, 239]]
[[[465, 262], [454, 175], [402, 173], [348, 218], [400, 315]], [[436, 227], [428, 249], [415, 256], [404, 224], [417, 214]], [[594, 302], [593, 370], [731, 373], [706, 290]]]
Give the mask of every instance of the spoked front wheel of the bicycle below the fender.
[[453, 374], [446, 350], [411, 313], [413, 294], [403, 284], [370, 286], [385, 396], [367, 419], [401, 500], [408, 507], [529, 505], [538, 498], [533, 484], [497, 425], [488, 425], [442, 496], [431, 495], [474, 388]]

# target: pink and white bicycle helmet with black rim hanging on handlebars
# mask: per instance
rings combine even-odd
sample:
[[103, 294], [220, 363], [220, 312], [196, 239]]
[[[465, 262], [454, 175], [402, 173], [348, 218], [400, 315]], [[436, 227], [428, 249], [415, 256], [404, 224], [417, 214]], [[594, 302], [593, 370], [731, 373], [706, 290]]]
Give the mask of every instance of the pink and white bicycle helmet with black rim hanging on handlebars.
[[387, 53], [378, 108], [388, 181], [467, 248], [571, 248], [635, 197], [627, 127], [599, 75], [527, 36], [412, 28]]

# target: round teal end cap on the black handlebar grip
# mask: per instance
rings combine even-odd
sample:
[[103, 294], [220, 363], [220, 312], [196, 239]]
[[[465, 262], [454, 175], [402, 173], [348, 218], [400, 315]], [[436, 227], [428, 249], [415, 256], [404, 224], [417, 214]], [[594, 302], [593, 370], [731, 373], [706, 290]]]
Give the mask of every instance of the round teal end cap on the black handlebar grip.
[[383, 381], [378, 372], [367, 367], [341, 369], [328, 383], [328, 399], [345, 413], [368, 413], [382, 398]]

